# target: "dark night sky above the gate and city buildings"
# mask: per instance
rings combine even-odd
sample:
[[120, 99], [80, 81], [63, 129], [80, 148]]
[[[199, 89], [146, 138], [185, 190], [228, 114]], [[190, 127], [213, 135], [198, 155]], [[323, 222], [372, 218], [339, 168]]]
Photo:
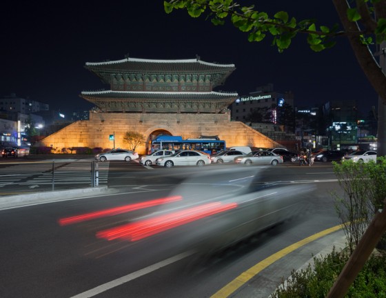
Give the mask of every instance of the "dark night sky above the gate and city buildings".
[[[255, 1], [259, 10], [286, 10], [300, 20], [338, 22], [332, 1]], [[323, 4], [322, 4], [323, 3]], [[92, 104], [81, 91], [109, 89], [86, 70], [86, 62], [124, 59], [193, 59], [234, 63], [236, 70], [217, 91], [247, 95], [273, 83], [292, 91], [298, 108], [329, 100], [356, 99], [367, 114], [378, 96], [354, 57], [347, 39], [313, 52], [298, 35], [282, 54], [272, 40], [250, 43], [247, 34], [227, 22], [213, 26], [185, 10], [166, 14], [163, 1], [5, 1], [0, 18], [0, 96], [16, 93], [72, 112]]]

